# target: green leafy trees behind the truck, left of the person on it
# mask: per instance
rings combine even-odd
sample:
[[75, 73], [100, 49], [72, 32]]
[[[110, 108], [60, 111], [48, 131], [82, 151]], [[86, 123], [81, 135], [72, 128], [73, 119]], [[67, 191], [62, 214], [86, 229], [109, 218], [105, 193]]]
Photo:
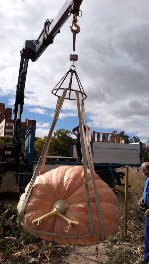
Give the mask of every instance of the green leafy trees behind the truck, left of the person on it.
[[[44, 138], [39, 138], [34, 144], [34, 149], [40, 155], [46, 141]], [[70, 131], [64, 128], [54, 131], [51, 138], [50, 147], [48, 149], [48, 156], [69, 156], [70, 145], [75, 145], [76, 140], [70, 136]]]

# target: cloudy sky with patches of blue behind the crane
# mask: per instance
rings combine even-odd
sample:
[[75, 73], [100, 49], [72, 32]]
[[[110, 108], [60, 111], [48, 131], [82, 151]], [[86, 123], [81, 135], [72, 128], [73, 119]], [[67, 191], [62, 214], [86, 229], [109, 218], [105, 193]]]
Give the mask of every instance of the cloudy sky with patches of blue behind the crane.
[[[5, 0], [0, 3], [0, 102], [13, 108], [20, 50], [37, 39], [46, 19], [65, 0]], [[87, 99], [88, 126], [98, 132], [124, 130], [143, 142], [149, 136], [149, 2], [83, 0], [76, 35], [76, 72]], [[37, 122], [36, 136], [48, 134], [57, 97], [51, 90], [70, 69], [72, 16], [36, 62], [29, 60], [22, 121]], [[78, 88], [77, 88], [78, 89]], [[78, 125], [76, 101], [65, 100], [55, 129]]]

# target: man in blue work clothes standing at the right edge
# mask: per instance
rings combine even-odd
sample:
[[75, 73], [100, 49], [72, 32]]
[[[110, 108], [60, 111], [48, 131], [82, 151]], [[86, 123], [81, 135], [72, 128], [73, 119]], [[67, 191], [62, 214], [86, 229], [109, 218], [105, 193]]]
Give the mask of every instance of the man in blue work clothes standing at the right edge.
[[146, 176], [143, 196], [138, 201], [139, 205], [146, 205], [145, 209], [145, 246], [143, 249], [143, 258], [138, 260], [138, 263], [149, 262], [149, 162], [144, 162], [141, 165], [143, 175]]

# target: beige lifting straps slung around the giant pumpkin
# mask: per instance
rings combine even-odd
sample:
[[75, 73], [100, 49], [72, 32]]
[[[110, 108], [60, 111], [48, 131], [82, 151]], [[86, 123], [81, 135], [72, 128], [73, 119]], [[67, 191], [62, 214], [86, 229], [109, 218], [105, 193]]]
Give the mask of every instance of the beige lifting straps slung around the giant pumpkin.
[[[104, 240], [104, 237], [103, 237], [103, 220], [102, 220], [101, 208], [100, 208], [99, 199], [98, 199], [98, 193], [97, 193], [97, 189], [96, 189], [96, 183], [95, 183], [95, 179], [94, 179], [94, 175], [93, 175], [94, 167], [93, 167], [91, 146], [90, 146], [90, 140], [89, 140], [89, 134], [88, 134], [88, 128], [87, 128], [86, 114], [85, 114], [84, 103], [83, 103], [82, 99], [81, 99], [81, 110], [80, 110], [79, 91], [78, 90], [76, 90], [76, 101], [77, 101], [77, 108], [78, 108], [78, 121], [79, 121], [79, 129], [80, 129], [83, 172], [84, 172], [84, 182], [85, 182], [85, 190], [86, 190], [86, 204], [87, 204], [87, 210], [88, 210], [89, 233], [87, 233], [87, 234], [85, 234], [83, 236], [61, 235], [61, 234], [50, 233], [50, 232], [46, 232], [46, 231], [42, 231], [42, 230], [38, 230], [38, 229], [29, 228], [29, 227], [25, 226], [23, 221], [22, 221], [23, 220], [23, 216], [24, 216], [24, 210], [25, 210], [27, 201], [29, 199], [29, 196], [31, 194], [31, 190], [33, 188], [35, 179], [36, 179], [36, 177], [38, 175], [39, 166], [41, 165], [41, 163], [43, 163], [43, 167], [41, 167], [41, 169], [44, 170], [44, 165], [45, 165], [45, 161], [46, 161], [46, 153], [48, 151], [49, 144], [50, 144], [51, 137], [52, 137], [52, 133], [53, 133], [56, 121], [58, 119], [61, 107], [63, 105], [64, 99], [66, 97], [67, 90], [68, 90], [67, 88], [64, 88], [62, 97], [61, 98], [58, 97], [58, 102], [57, 102], [57, 107], [56, 107], [54, 119], [53, 119], [53, 122], [52, 122], [52, 125], [51, 125], [51, 128], [50, 128], [48, 137], [46, 139], [45, 145], [43, 147], [40, 159], [38, 161], [38, 164], [36, 166], [35, 172], [34, 172], [33, 177], [31, 179], [30, 186], [29, 186], [28, 192], [26, 193], [26, 197], [24, 199], [24, 203], [22, 205], [20, 214], [18, 216], [18, 223], [20, 223], [20, 225], [22, 227], [24, 227], [26, 230], [32, 231], [32, 232], [37, 233], [37, 234], [56, 236], [56, 237], [63, 237], [63, 238], [76, 238], [76, 239], [77, 238], [78, 239], [79, 238], [84, 238], [84, 237], [90, 236], [92, 234], [92, 235], [96, 236], [97, 238], [99, 238], [99, 240], [103, 241]], [[87, 141], [86, 141], [85, 132], [84, 132], [84, 129], [83, 129], [83, 127], [84, 127], [84, 125], [83, 125], [83, 114], [84, 114], [84, 119], [85, 119], [85, 125], [86, 125], [86, 128], [87, 128], [86, 129], [86, 133], [87, 133], [87, 137], [88, 137], [89, 150], [88, 150], [88, 145], [87, 145]], [[91, 175], [93, 193], [94, 193], [94, 197], [95, 197], [96, 208], [97, 208], [98, 218], [99, 218], [99, 222], [100, 222], [100, 232], [99, 233], [101, 233], [101, 235], [96, 234], [94, 232], [94, 230], [93, 230], [93, 217], [92, 217], [92, 212], [91, 212], [91, 202], [90, 202], [90, 195], [89, 195], [89, 188], [88, 188], [86, 156], [87, 156], [87, 160], [88, 160], [88, 166], [89, 166], [90, 175]]]

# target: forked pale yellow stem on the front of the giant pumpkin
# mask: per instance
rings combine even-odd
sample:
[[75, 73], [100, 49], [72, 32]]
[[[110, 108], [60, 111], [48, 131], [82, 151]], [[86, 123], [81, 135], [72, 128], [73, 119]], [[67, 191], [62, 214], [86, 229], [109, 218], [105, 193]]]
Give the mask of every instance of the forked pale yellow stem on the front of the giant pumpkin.
[[78, 222], [75, 222], [75, 221], [72, 221], [72, 220], [68, 219], [66, 216], [61, 214], [56, 208], [54, 208], [54, 210], [51, 213], [45, 214], [45, 215], [33, 220], [32, 224], [33, 225], [36, 224], [36, 223], [41, 224], [43, 219], [47, 219], [47, 218], [49, 218], [49, 217], [51, 217], [51, 216], [53, 216], [55, 214], [57, 216], [61, 217], [62, 219], [66, 220], [68, 222], [69, 226], [70, 225], [76, 225], [76, 226], [78, 225]]

